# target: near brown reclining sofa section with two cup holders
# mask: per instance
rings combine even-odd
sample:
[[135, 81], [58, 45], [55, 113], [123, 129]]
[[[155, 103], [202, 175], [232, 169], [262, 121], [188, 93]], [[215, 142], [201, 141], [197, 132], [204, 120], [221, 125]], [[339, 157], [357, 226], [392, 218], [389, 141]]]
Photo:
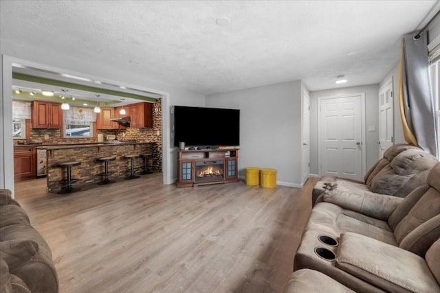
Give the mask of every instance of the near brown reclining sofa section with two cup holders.
[[[348, 187], [325, 190], [311, 211], [294, 257], [294, 271], [318, 270], [356, 292], [440, 292], [439, 178], [437, 163], [426, 184], [406, 198], [353, 192]], [[434, 252], [427, 253], [428, 249]], [[384, 274], [388, 262], [393, 268]], [[427, 279], [417, 277], [417, 268], [423, 268]], [[415, 276], [406, 278], [412, 282], [409, 285], [398, 277], [402, 270], [412, 270]], [[381, 274], [386, 281], [378, 280]]]

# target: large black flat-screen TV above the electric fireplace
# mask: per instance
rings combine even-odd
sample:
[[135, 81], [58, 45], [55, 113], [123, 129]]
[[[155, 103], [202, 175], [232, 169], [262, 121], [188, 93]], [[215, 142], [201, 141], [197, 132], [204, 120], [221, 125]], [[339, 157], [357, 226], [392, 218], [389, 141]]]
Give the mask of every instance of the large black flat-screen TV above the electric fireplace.
[[174, 145], [199, 148], [240, 145], [240, 110], [173, 106]]

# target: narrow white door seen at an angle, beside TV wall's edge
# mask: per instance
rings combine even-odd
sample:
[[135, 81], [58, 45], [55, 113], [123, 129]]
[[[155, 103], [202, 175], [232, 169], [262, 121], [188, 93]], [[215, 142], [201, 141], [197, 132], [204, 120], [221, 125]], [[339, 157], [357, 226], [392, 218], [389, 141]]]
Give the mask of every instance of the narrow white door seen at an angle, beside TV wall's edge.
[[310, 97], [303, 91], [303, 184], [310, 174]]

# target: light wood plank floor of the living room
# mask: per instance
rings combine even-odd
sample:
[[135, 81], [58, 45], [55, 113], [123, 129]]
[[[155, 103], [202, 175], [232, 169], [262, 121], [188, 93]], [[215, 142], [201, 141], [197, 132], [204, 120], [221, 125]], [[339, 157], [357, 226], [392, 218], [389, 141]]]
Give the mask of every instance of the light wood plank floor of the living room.
[[15, 198], [52, 249], [61, 293], [282, 292], [314, 181], [177, 189], [150, 174], [58, 195], [43, 178], [16, 183]]

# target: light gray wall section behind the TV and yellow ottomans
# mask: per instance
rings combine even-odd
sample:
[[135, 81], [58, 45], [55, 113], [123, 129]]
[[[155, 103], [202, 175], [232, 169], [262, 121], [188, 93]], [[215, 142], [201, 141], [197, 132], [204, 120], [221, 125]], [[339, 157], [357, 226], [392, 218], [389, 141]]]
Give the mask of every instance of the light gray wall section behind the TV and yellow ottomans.
[[299, 80], [206, 97], [206, 106], [240, 109], [240, 176], [245, 167], [277, 170], [277, 184], [301, 185]]

